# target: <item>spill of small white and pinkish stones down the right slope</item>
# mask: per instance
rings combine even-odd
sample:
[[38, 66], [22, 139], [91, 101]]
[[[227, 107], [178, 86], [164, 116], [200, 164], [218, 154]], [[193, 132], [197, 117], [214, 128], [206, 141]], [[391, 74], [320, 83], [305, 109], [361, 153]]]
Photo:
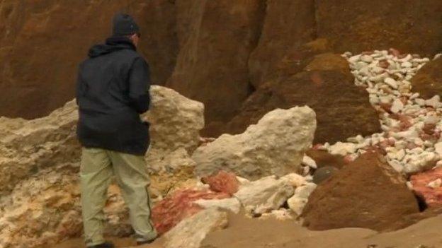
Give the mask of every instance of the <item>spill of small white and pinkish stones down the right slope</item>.
[[[355, 84], [366, 88], [371, 105], [379, 110], [382, 132], [351, 137], [345, 143], [325, 143], [318, 148], [354, 160], [374, 146], [385, 153], [395, 170], [407, 175], [442, 165], [441, 99], [438, 95], [428, 100], [419, 98], [410, 83], [430, 59], [399, 54], [395, 49], [357, 55], [346, 52], [342, 56], [348, 59]], [[426, 129], [431, 129], [430, 134]]]

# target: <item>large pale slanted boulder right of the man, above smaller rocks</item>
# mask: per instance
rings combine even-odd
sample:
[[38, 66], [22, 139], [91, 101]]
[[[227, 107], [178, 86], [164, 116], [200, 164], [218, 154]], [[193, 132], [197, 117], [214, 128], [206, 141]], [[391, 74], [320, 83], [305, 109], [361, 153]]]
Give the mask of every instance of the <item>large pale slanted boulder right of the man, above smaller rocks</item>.
[[227, 170], [249, 179], [297, 172], [312, 145], [315, 118], [307, 106], [268, 112], [243, 134], [223, 134], [198, 148], [192, 155], [196, 171], [209, 175]]

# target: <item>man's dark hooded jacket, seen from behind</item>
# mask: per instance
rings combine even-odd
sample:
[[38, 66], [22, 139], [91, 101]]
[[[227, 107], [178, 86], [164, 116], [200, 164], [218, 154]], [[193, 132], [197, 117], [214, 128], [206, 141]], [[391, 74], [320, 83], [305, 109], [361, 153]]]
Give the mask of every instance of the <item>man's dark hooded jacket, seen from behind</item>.
[[149, 126], [149, 66], [126, 37], [111, 37], [89, 50], [79, 66], [77, 136], [82, 146], [144, 155]]

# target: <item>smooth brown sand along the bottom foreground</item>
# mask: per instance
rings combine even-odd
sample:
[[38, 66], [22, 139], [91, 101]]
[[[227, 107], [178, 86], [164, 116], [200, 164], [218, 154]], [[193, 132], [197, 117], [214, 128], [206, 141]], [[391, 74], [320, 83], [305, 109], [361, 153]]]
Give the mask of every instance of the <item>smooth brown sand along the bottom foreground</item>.
[[[294, 221], [256, 220], [229, 215], [229, 227], [210, 233], [204, 248], [441, 248], [442, 215], [395, 232], [378, 233], [361, 228], [310, 231]], [[117, 247], [134, 245], [131, 239], [113, 240]], [[140, 248], [161, 248], [161, 240]], [[421, 246], [421, 247], [419, 247]], [[83, 248], [81, 239], [57, 248]], [[54, 248], [55, 248], [54, 247]]]

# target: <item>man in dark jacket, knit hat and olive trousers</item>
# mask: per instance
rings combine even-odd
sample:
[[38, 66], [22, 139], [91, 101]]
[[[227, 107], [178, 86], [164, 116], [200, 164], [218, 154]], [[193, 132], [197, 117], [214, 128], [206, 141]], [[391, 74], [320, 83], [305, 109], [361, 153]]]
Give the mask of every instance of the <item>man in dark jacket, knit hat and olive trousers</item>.
[[144, 155], [149, 126], [140, 114], [149, 109], [149, 66], [136, 52], [137, 23], [128, 15], [113, 18], [113, 36], [89, 50], [79, 66], [77, 136], [81, 145], [81, 206], [87, 247], [112, 248], [103, 239], [103, 207], [111, 177], [130, 210], [137, 244], [157, 237], [150, 220]]

